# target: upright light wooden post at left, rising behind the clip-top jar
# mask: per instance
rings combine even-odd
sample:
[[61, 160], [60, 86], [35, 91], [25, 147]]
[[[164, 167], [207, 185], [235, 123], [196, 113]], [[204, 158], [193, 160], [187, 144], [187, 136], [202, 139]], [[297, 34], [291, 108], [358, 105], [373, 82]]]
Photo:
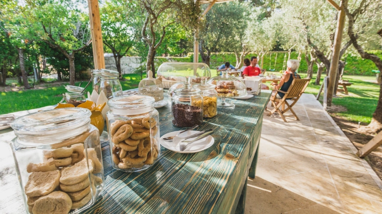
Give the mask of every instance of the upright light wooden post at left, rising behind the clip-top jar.
[[94, 69], [105, 69], [104, 45], [102, 43], [101, 17], [98, 0], [88, 0], [89, 21], [93, 46]]

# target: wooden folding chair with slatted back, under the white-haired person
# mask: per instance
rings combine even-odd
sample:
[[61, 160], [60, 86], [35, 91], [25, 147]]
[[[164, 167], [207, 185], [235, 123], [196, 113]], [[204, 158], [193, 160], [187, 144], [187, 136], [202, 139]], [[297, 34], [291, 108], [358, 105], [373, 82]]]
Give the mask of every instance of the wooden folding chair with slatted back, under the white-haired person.
[[[281, 90], [276, 90], [281, 93], [284, 93], [284, 97], [282, 99], [276, 98], [277, 92], [270, 97], [270, 101], [272, 103], [272, 106], [275, 106], [274, 109], [272, 109], [269, 113], [268, 116], [271, 116], [274, 112], [277, 111], [277, 113], [281, 116], [281, 118], [284, 120], [284, 122], [288, 122], [285, 117], [284, 113], [287, 111], [291, 111], [292, 114], [296, 117], [296, 120], [300, 120], [296, 113], [293, 111], [292, 107], [296, 104], [296, 102], [300, 99], [301, 95], [304, 93], [305, 88], [308, 86], [309, 81], [311, 79], [293, 79], [291, 86], [289, 87], [288, 91], [281, 91]], [[289, 104], [287, 100], [292, 100], [293, 102]], [[276, 102], [278, 104], [276, 105]], [[287, 106], [286, 109], [284, 109], [284, 105]], [[282, 108], [281, 111], [279, 108]]]

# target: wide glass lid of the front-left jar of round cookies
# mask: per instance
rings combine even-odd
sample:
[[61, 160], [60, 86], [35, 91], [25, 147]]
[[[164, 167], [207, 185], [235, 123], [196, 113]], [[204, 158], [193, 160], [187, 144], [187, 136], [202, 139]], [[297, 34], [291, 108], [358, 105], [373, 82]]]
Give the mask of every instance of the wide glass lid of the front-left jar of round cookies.
[[[85, 132], [87, 127], [84, 127], [84, 129], [79, 128], [90, 123], [90, 115], [90, 110], [85, 108], [53, 109], [19, 117], [10, 126], [17, 137], [30, 141], [30, 143], [36, 143], [36, 141], [33, 141], [33, 136], [42, 137], [65, 133], [49, 140], [50, 142], [60, 141], [60, 138], [67, 139], [70, 138], [70, 135], [76, 136], [78, 133]], [[69, 130], [75, 130], [75, 132], [68, 132]], [[37, 141], [37, 143], [46, 143], [46, 141]]]

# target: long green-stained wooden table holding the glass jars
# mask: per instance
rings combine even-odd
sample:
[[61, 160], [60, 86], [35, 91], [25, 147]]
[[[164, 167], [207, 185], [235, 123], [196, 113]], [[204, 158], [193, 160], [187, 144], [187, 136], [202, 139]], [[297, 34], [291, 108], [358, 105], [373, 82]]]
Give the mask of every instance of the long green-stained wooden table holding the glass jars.
[[[193, 154], [161, 147], [161, 158], [141, 173], [111, 166], [109, 143], [102, 143], [104, 189], [83, 214], [230, 214], [244, 213], [247, 177], [255, 177], [262, 117], [271, 91], [248, 100], [232, 100], [235, 109], [218, 109], [196, 130], [215, 129], [215, 144]], [[167, 97], [167, 96], [165, 96]], [[167, 99], [167, 98], [166, 98]], [[161, 136], [180, 130], [172, 125], [171, 104], [158, 109]], [[11, 129], [0, 131], [0, 210], [25, 213], [6, 141]], [[4, 194], [5, 193], [5, 194]]]

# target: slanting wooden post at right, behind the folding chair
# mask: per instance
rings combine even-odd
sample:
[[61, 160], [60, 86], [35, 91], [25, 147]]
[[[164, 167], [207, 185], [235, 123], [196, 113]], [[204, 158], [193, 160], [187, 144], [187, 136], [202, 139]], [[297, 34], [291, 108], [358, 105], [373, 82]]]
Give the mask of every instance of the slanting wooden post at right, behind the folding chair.
[[331, 106], [331, 100], [334, 94], [336, 76], [338, 73], [339, 54], [341, 52], [341, 40], [342, 40], [343, 27], [345, 24], [345, 11], [343, 9], [343, 5], [346, 3], [347, 3], [347, 0], [341, 0], [340, 10], [338, 11], [337, 28], [335, 30], [335, 36], [334, 36], [333, 56], [331, 58], [330, 69], [329, 69], [330, 78], [329, 78], [329, 84], [327, 88], [327, 97], [326, 97], [327, 106]]

